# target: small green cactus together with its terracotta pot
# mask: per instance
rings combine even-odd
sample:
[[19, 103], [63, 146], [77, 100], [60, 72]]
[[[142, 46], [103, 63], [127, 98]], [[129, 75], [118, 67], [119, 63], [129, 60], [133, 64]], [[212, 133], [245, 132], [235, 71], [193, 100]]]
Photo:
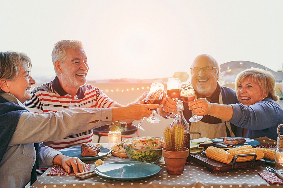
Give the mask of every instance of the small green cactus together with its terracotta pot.
[[181, 124], [175, 124], [171, 129], [164, 130], [167, 147], [162, 148], [162, 156], [168, 174], [180, 175], [183, 173], [189, 149], [183, 147], [185, 130]]

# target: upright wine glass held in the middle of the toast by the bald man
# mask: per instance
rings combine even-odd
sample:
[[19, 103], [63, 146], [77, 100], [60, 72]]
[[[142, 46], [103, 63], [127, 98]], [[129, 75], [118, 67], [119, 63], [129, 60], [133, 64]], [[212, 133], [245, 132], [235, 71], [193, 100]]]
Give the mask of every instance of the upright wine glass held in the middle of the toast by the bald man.
[[[167, 95], [171, 99], [175, 100], [180, 96], [180, 88], [181, 88], [181, 80], [179, 78], [168, 78], [167, 81]], [[171, 114], [166, 116], [167, 118], [174, 119], [176, 114], [174, 113], [174, 109]]]

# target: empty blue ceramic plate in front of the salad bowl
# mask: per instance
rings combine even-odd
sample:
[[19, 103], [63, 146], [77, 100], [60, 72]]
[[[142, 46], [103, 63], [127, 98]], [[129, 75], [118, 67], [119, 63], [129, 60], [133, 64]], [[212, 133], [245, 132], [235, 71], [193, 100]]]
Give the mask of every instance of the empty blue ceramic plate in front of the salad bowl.
[[146, 162], [122, 161], [106, 163], [95, 168], [95, 173], [111, 180], [141, 180], [157, 174], [161, 168]]

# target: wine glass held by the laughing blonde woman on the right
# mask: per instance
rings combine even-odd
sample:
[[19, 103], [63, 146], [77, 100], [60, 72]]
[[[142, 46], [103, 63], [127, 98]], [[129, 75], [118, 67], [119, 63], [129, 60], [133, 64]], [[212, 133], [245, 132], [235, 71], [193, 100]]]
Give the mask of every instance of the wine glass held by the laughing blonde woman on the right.
[[[185, 81], [181, 83], [181, 99], [183, 102], [191, 102], [195, 99], [196, 93], [194, 88], [191, 85], [191, 82]], [[194, 116], [189, 119], [191, 123], [198, 122], [203, 116], [197, 116], [194, 113]]]

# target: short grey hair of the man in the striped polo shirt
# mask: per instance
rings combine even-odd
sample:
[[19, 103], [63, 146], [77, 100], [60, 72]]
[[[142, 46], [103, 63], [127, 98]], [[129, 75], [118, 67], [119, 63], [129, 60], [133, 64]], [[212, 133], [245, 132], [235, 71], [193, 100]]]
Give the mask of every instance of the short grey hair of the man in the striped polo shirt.
[[54, 66], [54, 70], [56, 73], [56, 76], [58, 76], [58, 72], [55, 68], [55, 61], [60, 61], [61, 63], [64, 63], [64, 61], [67, 59], [67, 54], [66, 54], [66, 50], [67, 49], [78, 49], [81, 48], [83, 49], [83, 45], [81, 43], [81, 41], [79, 40], [60, 40], [59, 42], [57, 42], [54, 45], [54, 48], [52, 50], [52, 62], [53, 62], [53, 66]]

